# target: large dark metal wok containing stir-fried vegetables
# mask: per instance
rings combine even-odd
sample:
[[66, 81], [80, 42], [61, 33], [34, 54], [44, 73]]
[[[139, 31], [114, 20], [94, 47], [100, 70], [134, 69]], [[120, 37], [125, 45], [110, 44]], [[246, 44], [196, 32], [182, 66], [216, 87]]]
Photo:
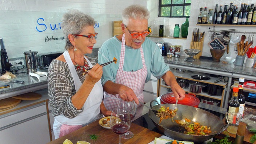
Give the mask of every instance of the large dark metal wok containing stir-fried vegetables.
[[[165, 105], [165, 107], [169, 107], [170, 109], [175, 108], [175, 104], [160, 104], [160, 106], [163, 105]], [[164, 135], [171, 137], [172, 139], [203, 143], [204, 141], [207, 141], [215, 135], [223, 132], [228, 127], [228, 125], [224, 125], [223, 121], [219, 117], [210, 112], [204, 111], [203, 109], [181, 104], [177, 104], [177, 108], [178, 111], [176, 116], [173, 117], [173, 120], [181, 120], [187, 118], [191, 121], [199, 122], [201, 125], [211, 127], [212, 133], [208, 136], [186, 135], [183, 133], [185, 129], [177, 124], [175, 121], [172, 122], [171, 119], [162, 120], [161, 124], [159, 124], [160, 118], [157, 117], [154, 112], [149, 110], [148, 115], [157, 127], [157, 129], [160, 132], [164, 133]], [[159, 109], [159, 105], [153, 106], [152, 109]]]

